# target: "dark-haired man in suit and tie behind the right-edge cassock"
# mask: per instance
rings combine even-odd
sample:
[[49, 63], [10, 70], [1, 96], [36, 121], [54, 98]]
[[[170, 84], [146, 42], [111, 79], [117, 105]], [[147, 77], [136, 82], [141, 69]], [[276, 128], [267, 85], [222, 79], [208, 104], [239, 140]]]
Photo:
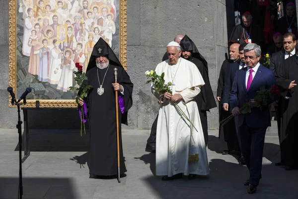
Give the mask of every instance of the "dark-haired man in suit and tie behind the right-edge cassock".
[[[274, 53], [270, 59], [270, 65], [269, 69], [271, 69], [273, 72], [277, 72], [279, 70], [279, 67], [282, 66], [283, 62], [285, 59], [288, 59], [289, 57], [293, 56], [296, 54], [296, 36], [293, 33], [286, 33], [283, 38], [283, 45], [284, 49]], [[280, 126], [281, 126], [281, 115], [283, 114], [278, 108], [278, 106], [281, 107], [283, 103], [283, 98], [279, 98], [277, 100], [277, 103], [275, 102], [273, 105], [275, 106], [275, 112], [276, 112], [276, 120], [277, 120], [277, 127], [278, 127], [278, 137], [280, 141], [280, 146], [281, 146], [281, 132], [280, 132]], [[281, 161], [277, 162], [275, 165], [276, 166], [283, 166], [284, 165], [284, 158], [283, 158], [283, 151], [281, 147]]]

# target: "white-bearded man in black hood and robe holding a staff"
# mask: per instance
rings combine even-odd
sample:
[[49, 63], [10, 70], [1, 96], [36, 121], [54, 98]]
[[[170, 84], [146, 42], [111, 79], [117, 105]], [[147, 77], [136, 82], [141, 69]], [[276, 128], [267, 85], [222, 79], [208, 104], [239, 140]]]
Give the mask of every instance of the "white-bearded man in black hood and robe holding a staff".
[[[114, 68], [118, 69], [115, 84]], [[90, 130], [90, 178], [112, 179], [118, 174], [115, 91], [119, 101], [120, 174], [125, 176], [121, 123], [127, 124], [132, 106], [133, 83], [110, 46], [100, 38], [95, 44], [86, 71], [87, 85], [93, 88], [84, 101]], [[84, 101], [80, 99], [80, 105]]]

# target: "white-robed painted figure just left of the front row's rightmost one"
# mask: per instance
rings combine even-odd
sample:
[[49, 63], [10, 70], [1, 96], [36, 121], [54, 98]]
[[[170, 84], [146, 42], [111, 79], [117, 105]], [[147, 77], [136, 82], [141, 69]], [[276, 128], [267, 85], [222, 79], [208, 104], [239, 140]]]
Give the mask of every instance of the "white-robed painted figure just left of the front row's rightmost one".
[[61, 69], [62, 52], [59, 49], [59, 43], [57, 42], [57, 39], [53, 40], [53, 45], [55, 47], [51, 50], [49, 83], [57, 85], [59, 83], [61, 73], [62, 73], [62, 69]]

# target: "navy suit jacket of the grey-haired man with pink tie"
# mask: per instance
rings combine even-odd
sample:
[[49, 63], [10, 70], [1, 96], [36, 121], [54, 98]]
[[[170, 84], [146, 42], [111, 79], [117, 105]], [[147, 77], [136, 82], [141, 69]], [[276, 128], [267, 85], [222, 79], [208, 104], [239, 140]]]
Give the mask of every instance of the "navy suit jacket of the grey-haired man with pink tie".
[[[265, 86], [266, 89], [269, 89], [272, 85], [276, 84], [273, 72], [263, 65], [260, 65], [252, 80], [249, 90], [246, 91], [246, 72], [247, 67], [236, 71], [232, 90], [229, 95], [231, 109], [236, 106], [241, 108], [247, 100], [254, 99], [257, 92], [260, 90], [260, 87]], [[268, 100], [268, 104], [273, 101], [274, 99]], [[236, 116], [235, 124], [237, 126], [241, 126], [244, 119], [249, 127], [267, 128], [271, 125], [269, 106], [263, 106], [262, 109], [260, 107], [252, 107], [250, 113]]]

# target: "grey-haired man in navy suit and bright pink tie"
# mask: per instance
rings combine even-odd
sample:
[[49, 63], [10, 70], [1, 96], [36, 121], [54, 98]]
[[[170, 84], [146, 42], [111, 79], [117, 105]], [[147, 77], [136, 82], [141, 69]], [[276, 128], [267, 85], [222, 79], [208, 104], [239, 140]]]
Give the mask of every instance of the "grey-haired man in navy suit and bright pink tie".
[[[238, 127], [237, 135], [241, 152], [249, 170], [249, 180], [244, 185], [249, 185], [248, 194], [254, 194], [259, 184], [262, 170], [262, 156], [265, 133], [270, 123], [269, 107], [262, 106], [253, 100], [260, 87], [269, 89], [275, 84], [275, 77], [270, 69], [259, 63], [261, 47], [257, 44], [247, 44], [244, 48], [244, 57], [247, 67], [236, 71], [229, 103], [235, 124]], [[250, 113], [242, 114], [239, 110], [246, 101], [249, 101]], [[272, 100], [268, 101], [268, 104]]]

